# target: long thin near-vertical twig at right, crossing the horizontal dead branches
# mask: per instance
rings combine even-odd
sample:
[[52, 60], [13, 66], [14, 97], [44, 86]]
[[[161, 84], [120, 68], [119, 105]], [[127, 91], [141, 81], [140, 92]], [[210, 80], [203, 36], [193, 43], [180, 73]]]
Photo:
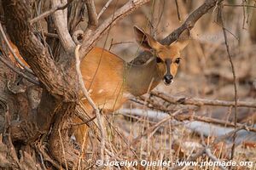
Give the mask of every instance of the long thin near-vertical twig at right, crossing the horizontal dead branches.
[[[224, 16], [222, 14], [222, 10], [223, 10], [223, 6], [220, 6], [219, 7], [219, 12], [220, 12], [220, 20], [221, 20], [221, 24], [223, 27], [224, 26]], [[235, 125], [235, 128], [236, 128], [236, 122], [237, 122], [237, 86], [236, 86], [236, 71], [235, 71], [235, 67], [234, 67], [234, 64], [233, 64], [233, 61], [232, 61], [232, 57], [231, 57], [231, 54], [230, 54], [230, 46], [229, 46], [229, 43], [228, 43], [228, 37], [227, 37], [227, 33], [226, 33], [226, 30], [223, 28], [223, 34], [224, 34], [224, 40], [225, 40], [225, 45], [226, 45], [226, 49], [227, 49], [227, 53], [228, 53], [228, 56], [229, 56], [229, 59], [230, 59], [230, 65], [231, 65], [231, 69], [232, 69], [232, 74], [233, 74], [233, 79], [234, 79], [234, 92], [235, 92], [235, 96], [234, 96], [234, 101], [235, 101], [235, 115], [234, 115], [234, 125]], [[231, 160], [233, 159], [234, 157], [234, 154], [235, 154], [235, 148], [236, 148], [236, 133], [234, 133], [233, 135], [233, 145], [232, 145], [232, 150], [231, 150]]]

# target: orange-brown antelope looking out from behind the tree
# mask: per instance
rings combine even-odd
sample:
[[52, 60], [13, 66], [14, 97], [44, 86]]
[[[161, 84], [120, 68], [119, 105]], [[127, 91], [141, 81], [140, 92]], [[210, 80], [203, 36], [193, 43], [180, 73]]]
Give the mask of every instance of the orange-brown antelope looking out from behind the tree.
[[[171, 45], [162, 45], [137, 26], [134, 26], [134, 32], [138, 44], [154, 56], [144, 65], [127, 63], [103, 48], [92, 48], [81, 62], [84, 86], [104, 113], [117, 111], [125, 101], [146, 94], [161, 81], [170, 85], [180, 64], [180, 52], [189, 42], [189, 30], [183, 31]], [[83, 104], [88, 113], [93, 112], [86, 99], [83, 99]], [[74, 122], [82, 121], [75, 118]], [[84, 135], [87, 130], [86, 125], [75, 130], [74, 135], [79, 144], [83, 144], [86, 139]]]

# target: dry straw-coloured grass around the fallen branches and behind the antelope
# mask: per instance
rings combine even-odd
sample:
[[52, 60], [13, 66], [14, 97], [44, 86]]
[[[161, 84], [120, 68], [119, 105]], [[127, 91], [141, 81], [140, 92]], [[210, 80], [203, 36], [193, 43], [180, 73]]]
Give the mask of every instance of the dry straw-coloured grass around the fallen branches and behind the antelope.
[[[187, 3], [178, 4], [180, 9], [181, 20], [186, 18], [198, 4], [202, 1], [186, 1]], [[120, 2], [119, 2], [120, 3]], [[160, 20], [159, 26], [156, 28], [157, 37], [165, 37], [168, 32], [179, 26], [177, 20], [175, 1], [165, 1], [165, 9]], [[224, 2], [226, 3], [226, 2]], [[239, 4], [241, 1], [235, 1]], [[101, 3], [97, 3], [100, 8]], [[114, 53], [119, 54], [126, 60], [131, 60], [137, 51], [136, 43], [130, 43], [133, 40], [133, 32], [131, 23], [141, 27], [147, 26], [147, 17], [150, 18], [150, 10], [152, 4], [138, 10], [136, 14], [132, 14], [123, 20], [118, 26], [115, 26], [109, 34], [107, 40], [107, 48], [111, 47]], [[111, 5], [106, 13], [111, 13]], [[112, 7], [113, 8], [113, 7]], [[250, 32], [242, 27], [250, 27], [252, 10], [247, 9], [246, 17], [248, 22], [244, 24], [243, 8], [224, 8], [225, 26], [231, 33], [228, 34], [230, 41], [230, 49], [233, 55], [233, 61], [236, 70], [238, 84], [239, 100], [255, 102], [255, 44], [251, 42]], [[218, 25], [216, 19], [216, 11], [206, 14], [193, 29], [194, 40], [190, 42], [189, 47], [183, 53], [182, 65], [175, 82], [171, 87], [165, 87], [163, 84], [156, 89], [165, 94], [172, 94], [186, 97], [201, 97], [206, 99], [224, 99], [234, 100], [233, 77], [230, 70], [229, 59], [224, 46], [224, 37], [222, 28]], [[104, 18], [104, 14], [103, 14]], [[116, 34], [122, 34], [117, 37]], [[239, 38], [239, 40], [237, 39]], [[102, 38], [101, 46], [106, 38]], [[125, 42], [129, 43], [125, 43]], [[255, 40], [254, 40], [255, 41]], [[120, 42], [117, 45], [113, 43]], [[124, 43], [122, 43], [124, 42]], [[181, 111], [186, 114], [195, 114], [196, 116], [208, 116], [222, 121], [232, 122], [234, 117], [234, 109], [228, 107], [202, 106], [193, 105], [171, 105], [157, 98], [152, 99], [155, 104], [164, 107], [170, 114], [175, 111]], [[152, 105], [151, 105], [152, 106]], [[133, 113], [137, 108], [143, 109], [144, 115], [147, 115], [148, 107], [146, 105], [137, 105], [130, 102], [124, 106], [131, 109]], [[121, 112], [121, 111], [120, 111]], [[122, 112], [121, 112], [122, 113]], [[185, 122], [172, 121], [161, 124], [159, 127], [154, 125], [160, 120], [150, 116], [124, 116], [121, 113], [106, 116], [105, 124], [107, 131], [105, 154], [109, 160], [115, 161], [157, 161], [166, 160], [175, 163], [177, 161], [185, 161], [198, 153], [198, 151], [209, 147], [212, 155], [220, 161], [229, 161], [232, 142], [227, 135], [212, 135], [210, 130], [201, 136], [202, 131], [189, 129], [186, 124], [193, 120]], [[238, 122], [255, 123], [255, 109], [239, 108]], [[202, 127], [204, 128], [204, 127]], [[148, 130], [149, 129], [149, 130]], [[152, 130], [152, 131], [151, 131]], [[223, 133], [224, 129], [219, 130]], [[146, 133], [145, 133], [146, 132]], [[145, 135], [142, 135], [145, 134]], [[254, 133], [255, 136], [255, 133]], [[235, 169], [256, 169], [256, 146], [255, 138], [247, 139], [238, 137], [244, 141], [237, 142], [234, 161], [253, 161], [253, 167], [236, 167]], [[96, 133], [90, 133], [90, 145], [86, 152], [86, 157], [91, 165], [94, 165], [99, 158], [99, 141], [96, 139]], [[135, 140], [137, 140], [135, 142]], [[202, 142], [203, 141], [203, 142]], [[132, 144], [132, 145], [131, 145]], [[196, 161], [209, 161], [207, 154], [201, 154]], [[172, 164], [171, 167], [175, 167]], [[146, 169], [146, 167], [104, 167], [106, 169]], [[167, 169], [168, 167], [147, 167], [147, 169]], [[184, 167], [183, 169], [218, 169], [219, 167]], [[227, 167], [228, 169], [228, 167]]]

